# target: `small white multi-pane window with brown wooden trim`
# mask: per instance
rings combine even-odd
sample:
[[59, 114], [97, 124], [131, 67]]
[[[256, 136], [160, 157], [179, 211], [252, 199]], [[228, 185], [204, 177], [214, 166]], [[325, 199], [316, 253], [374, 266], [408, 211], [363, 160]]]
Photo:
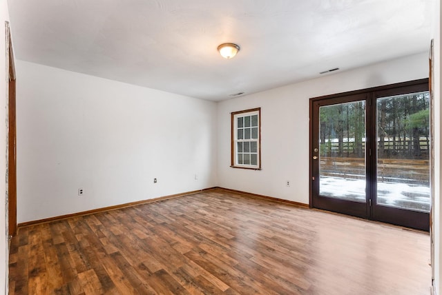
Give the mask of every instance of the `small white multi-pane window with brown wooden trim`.
[[261, 108], [233, 112], [231, 167], [261, 169]]

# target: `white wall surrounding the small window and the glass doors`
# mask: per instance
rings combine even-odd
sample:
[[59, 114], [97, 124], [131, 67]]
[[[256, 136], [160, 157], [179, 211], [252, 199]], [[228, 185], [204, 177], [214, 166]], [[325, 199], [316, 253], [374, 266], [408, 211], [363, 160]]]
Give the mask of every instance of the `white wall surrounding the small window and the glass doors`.
[[[309, 203], [309, 99], [427, 77], [424, 52], [218, 103], [219, 186]], [[230, 113], [258, 107], [262, 170], [231, 168]]]

